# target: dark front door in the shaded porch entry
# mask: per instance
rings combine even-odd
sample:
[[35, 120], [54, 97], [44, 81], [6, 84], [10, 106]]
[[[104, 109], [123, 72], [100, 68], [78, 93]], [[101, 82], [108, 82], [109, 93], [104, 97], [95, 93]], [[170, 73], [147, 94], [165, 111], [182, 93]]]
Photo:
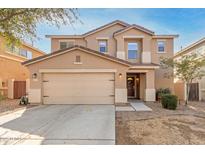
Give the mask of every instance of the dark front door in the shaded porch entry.
[[128, 99], [140, 99], [140, 74], [127, 74], [127, 97]]

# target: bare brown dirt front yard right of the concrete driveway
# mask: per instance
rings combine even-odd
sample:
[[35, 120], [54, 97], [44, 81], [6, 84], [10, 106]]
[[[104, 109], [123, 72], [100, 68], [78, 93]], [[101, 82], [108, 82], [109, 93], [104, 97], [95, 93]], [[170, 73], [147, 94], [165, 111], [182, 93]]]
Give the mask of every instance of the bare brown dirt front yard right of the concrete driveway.
[[151, 112], [116, 112], [116, 144], [205, 144], [205, 102]]

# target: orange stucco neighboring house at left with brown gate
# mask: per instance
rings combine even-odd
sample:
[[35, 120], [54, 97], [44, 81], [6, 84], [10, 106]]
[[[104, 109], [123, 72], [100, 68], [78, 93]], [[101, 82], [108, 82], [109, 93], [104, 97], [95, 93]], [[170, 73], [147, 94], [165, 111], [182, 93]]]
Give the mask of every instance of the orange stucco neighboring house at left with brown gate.
[[[26, 80], [29, 71], [22, 62], [38, 56], [44, 52], [31, 45], [22, 43], [15, 47], [7, 45], [5, 39], [0, 37], [0, 93], [8, 98], [19, 98], [25, 94]], [[29, 82], [29, 80], [27, 80]], [[28, 89], [29, 84], [27, 84]]]

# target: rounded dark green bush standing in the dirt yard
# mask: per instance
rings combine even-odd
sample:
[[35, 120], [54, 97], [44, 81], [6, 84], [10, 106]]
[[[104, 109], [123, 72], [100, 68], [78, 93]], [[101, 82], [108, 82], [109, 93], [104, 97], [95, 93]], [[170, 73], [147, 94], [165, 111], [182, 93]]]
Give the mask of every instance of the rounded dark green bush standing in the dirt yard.
[[177, 96], [171, 94], [162, 95], [162, 107], [165, 109], [176, 110]]

